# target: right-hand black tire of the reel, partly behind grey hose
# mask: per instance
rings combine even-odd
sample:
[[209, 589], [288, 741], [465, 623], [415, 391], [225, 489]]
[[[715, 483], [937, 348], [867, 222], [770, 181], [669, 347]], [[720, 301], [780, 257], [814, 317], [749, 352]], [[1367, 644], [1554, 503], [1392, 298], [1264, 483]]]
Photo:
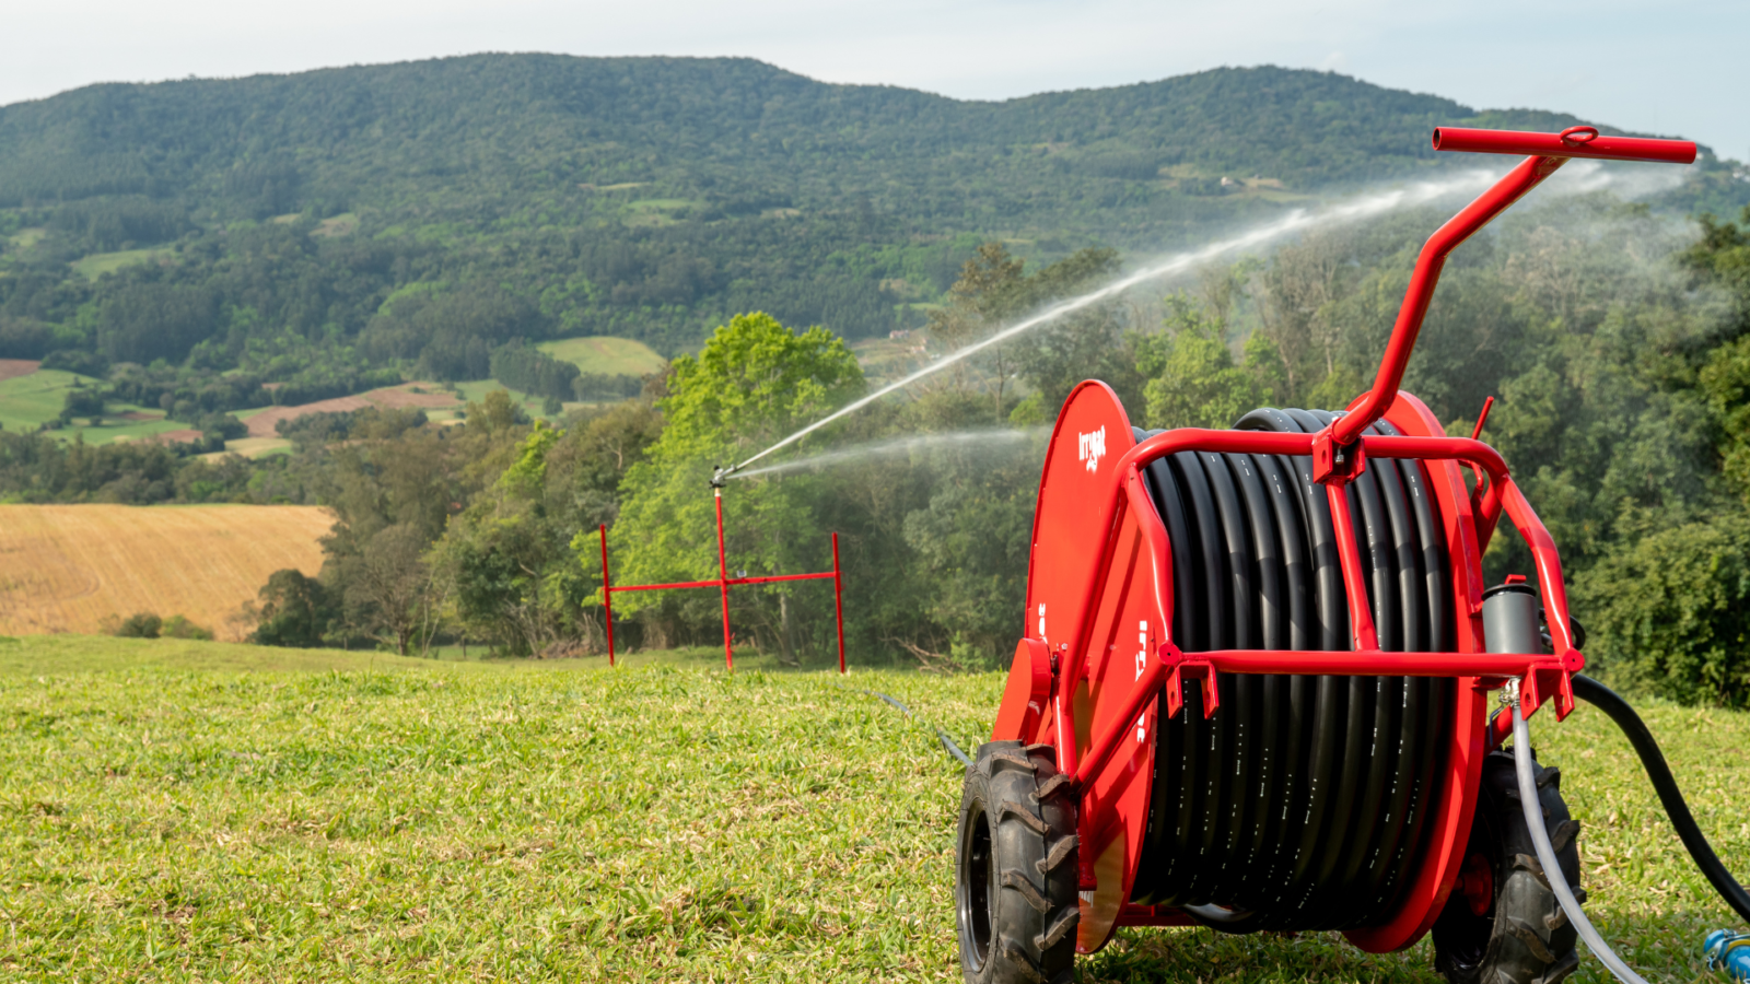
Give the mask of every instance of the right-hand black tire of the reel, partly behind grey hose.
[[[1561, 875], [1580, 888], [1580, 821], [1561, 800], [1561, 770], [1535, 769]], [[1519, 805], [1510, 751], [1482, 760], [1482, 790], [1458, 884], [1433, 924], [1433, 963], [1452, 984], [1558, 984], [1580, 963], [1578, 933], [1556, 902]]]

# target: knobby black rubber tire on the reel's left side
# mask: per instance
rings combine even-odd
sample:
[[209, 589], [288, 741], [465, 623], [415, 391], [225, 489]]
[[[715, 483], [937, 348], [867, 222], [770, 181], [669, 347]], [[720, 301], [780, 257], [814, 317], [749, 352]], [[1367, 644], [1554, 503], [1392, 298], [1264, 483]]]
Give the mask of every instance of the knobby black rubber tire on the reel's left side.
[[1074, 980], [1076, 809], [1048, 744], [994, 741], [966, 769], [954, 910], [966, 984]]

